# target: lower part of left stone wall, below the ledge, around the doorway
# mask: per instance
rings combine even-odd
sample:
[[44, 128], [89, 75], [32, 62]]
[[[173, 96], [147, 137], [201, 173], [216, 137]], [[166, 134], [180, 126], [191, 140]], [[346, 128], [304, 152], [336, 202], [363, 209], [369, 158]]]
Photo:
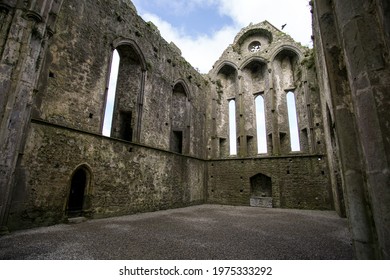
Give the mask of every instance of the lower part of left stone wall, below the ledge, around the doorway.
[[203, 160], [34, 121], [10, 211], [9, 228], [66, 220], [74, 171], [90, 182], [84, 215], [100, 218], [199, 204], [204, 198]]

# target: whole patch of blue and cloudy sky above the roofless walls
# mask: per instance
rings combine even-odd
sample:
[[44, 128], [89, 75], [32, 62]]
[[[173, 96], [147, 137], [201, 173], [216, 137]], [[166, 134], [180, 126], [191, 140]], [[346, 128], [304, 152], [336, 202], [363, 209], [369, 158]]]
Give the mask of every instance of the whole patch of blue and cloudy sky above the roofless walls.
[[311, 46], [309, 0], [133, 0], [183, 57], [207, 73], [241, 28], [268, 20], [304, 46]]

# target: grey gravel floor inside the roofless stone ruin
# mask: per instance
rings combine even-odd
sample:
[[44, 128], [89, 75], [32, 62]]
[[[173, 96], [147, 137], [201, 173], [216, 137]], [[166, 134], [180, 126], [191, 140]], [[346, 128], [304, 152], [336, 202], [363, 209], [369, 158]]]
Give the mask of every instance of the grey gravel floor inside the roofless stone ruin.
[[17, 231], [0, 259], [352, 259], [331, 211], [201, 205]]

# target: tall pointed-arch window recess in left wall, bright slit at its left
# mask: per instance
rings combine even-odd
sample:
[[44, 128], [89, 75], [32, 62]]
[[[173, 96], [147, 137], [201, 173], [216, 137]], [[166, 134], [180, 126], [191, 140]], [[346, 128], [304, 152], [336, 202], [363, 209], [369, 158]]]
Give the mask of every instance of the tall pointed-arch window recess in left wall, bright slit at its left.
[[[112, 54], [103, 135], [140, 141], [145, 59], [135, 42], [120, 42]], [[110, 128], [111, 125], [111, 128]]]

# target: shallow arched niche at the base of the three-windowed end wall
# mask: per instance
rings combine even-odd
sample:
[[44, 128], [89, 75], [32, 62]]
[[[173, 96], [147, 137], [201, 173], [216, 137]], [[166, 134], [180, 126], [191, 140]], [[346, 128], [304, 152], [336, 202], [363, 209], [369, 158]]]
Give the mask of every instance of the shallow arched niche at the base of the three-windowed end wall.
[[250, 205], [272, 208], [272, 181], [264, 174], [256, 174], [250, 178]]

